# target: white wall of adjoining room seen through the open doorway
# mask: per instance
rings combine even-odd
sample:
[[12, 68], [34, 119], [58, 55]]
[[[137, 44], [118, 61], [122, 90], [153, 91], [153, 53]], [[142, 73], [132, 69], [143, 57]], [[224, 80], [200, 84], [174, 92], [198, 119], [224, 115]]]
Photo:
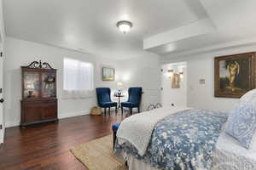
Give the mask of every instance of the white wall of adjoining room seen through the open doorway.
[[[187, 106], [187, 64], [186, 63], [174, 63], [162, 65], [162, 79], [161, 86], [161, 103], [163, 106], [186, 107]], [[168, 70], [182, 71], [180, 88], [172, 88], [172, 77], [167, 74]]]

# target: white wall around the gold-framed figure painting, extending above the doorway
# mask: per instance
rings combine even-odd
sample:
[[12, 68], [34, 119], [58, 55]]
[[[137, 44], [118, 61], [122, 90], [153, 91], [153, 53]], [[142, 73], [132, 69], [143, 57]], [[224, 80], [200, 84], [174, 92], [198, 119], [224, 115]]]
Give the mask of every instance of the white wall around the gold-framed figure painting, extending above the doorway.
[[[256, 51], [256, 46], [245, 46], [215, 50], [204, 54], [188, 56], [162, 56], [161, 63], [187, 61], [188, 67], [188, 105], [212, 111], [230, 111], [238, 99], [214, 97], [214, 57]], [[205, 79], [205, 84], [199, 80]]]

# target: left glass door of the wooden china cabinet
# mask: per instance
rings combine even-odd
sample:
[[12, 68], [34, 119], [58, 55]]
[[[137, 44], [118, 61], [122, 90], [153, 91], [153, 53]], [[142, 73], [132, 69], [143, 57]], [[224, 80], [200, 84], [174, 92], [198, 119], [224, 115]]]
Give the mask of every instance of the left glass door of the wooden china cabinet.
[[39, 98], [40, 76], [38, 72], [24, 71], [23, 95], [25, 99]]

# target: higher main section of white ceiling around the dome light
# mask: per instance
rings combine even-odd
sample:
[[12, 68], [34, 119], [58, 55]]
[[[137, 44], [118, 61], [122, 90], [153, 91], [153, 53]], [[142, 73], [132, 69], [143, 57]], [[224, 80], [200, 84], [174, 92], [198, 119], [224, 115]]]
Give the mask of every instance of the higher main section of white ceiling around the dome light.
[[[6, 33], [43, 42], [128, 59], [147, 54], [143, 38], [206, 17], [198, 0], [3, 0]], [[133, 23], [122, 34], [119, 20]]]

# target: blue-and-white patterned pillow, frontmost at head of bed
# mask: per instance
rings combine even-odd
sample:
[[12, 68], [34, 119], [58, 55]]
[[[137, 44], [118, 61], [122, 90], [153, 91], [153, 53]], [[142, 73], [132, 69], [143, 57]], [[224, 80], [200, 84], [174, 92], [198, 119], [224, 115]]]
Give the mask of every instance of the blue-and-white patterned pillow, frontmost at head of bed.
[[231, 111], [225, 132], [249, 149], [256, 129], [256, 107], [252, 102], [240, 102]]

